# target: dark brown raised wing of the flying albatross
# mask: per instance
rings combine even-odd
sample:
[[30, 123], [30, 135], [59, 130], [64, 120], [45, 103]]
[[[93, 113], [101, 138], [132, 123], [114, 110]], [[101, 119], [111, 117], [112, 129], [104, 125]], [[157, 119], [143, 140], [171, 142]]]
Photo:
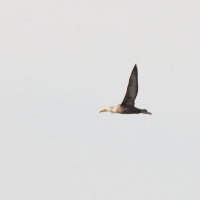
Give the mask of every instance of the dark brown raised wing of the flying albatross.
[[134, 66], [129, 83], [126, 91], [126, 95], [121, 105], [123, 106], [134, 106], [134, 101], [138, 93], [138, 71], [137, 65]]

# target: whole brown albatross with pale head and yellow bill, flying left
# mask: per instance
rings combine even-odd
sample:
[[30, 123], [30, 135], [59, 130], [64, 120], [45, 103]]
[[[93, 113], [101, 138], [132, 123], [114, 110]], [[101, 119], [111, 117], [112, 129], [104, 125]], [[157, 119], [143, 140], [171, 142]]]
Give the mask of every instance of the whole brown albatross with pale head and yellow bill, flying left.
[[134, 66], [131, 76], [129, 78], [129, 83], [127, 87], [127, 91], [125, 97], [121, 104], [118, 106], [108, 106], [102, 110], [101, 112], [111, 112], [111, 113], [120, 113], [120, 114], [149, 114], [146, 109], [139, 109], [135, 107], [135, 99], [138, 93], [138, 70], [137, 65]]

